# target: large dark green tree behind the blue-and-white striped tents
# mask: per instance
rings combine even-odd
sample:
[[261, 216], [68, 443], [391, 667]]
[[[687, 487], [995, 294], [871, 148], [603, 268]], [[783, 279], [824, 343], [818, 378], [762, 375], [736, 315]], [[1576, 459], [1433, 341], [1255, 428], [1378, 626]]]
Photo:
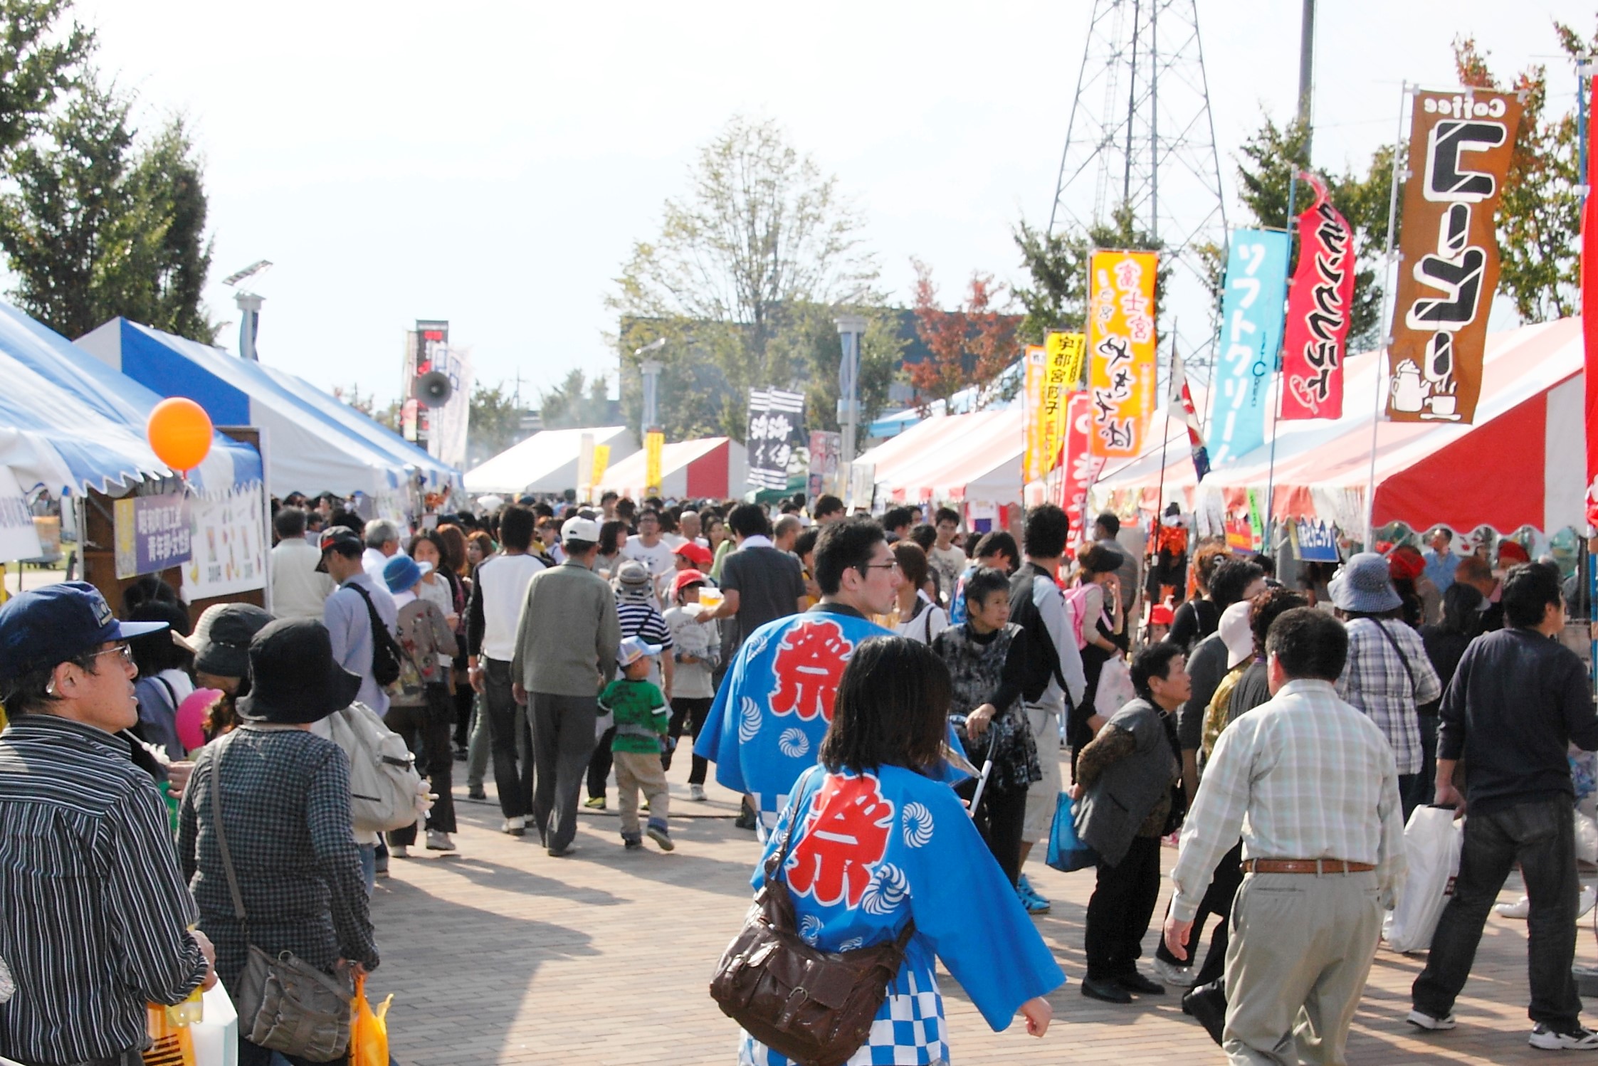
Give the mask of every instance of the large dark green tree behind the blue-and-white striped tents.
[[211, 342], [201, 166], [182, 120], [141, 145], [131, 109], [88, 78], [11, 155], [13, 192], [0, 197], [11, 296], [67, 337], [123, 315]]

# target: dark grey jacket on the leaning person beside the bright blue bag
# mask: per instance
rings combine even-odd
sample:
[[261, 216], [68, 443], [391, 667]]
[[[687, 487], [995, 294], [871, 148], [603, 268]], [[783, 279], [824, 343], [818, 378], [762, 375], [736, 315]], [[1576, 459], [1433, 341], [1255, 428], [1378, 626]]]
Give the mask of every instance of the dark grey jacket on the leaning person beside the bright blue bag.
[[1131, 734], [1136, 748], [1104, 767], [1077, 804], [1077, 836], [1115, 866], [1127, 857], [1138, 828], [1170, 794], [1176, 756], [1160, 721], [1160, 708], [1133, 700], [1115, 711], [1109, 726]]

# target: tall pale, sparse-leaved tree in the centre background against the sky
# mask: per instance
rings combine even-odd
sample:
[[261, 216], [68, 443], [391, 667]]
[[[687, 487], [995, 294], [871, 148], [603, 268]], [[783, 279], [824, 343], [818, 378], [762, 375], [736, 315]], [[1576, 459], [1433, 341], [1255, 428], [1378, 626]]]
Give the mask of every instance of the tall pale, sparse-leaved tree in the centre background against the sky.
[[[660, 235], [633, 246], [607, 299], [622, 320], [623, 409], [641, 403], [634, 350], [658, 337], [668, 344], [649, 356], [665, 364], [658, 414], [670, 438], [743, 440], [751, 387], [809, 390], [836, 344], [821, 342], [812, 308], [882, 302], [860, 229], [837, 179], [777, 123], [733, 117], [700, 149], [687, 195], [665, 203]], [[810, 412], [812, 424], [823, 414]]]

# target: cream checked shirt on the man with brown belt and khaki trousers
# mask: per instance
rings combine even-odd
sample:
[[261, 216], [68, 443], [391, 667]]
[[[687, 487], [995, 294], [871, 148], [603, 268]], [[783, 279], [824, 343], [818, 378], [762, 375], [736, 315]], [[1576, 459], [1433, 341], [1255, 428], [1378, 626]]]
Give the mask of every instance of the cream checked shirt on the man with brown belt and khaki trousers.
[[1245, 858], [1373, 863], [1392, 906], [1405, 877], [1392, 748], [1330, 681], [1290, 681], [1221, 734], [1171, 871], [1178, 921], [1192, 921], [1238, 833]]

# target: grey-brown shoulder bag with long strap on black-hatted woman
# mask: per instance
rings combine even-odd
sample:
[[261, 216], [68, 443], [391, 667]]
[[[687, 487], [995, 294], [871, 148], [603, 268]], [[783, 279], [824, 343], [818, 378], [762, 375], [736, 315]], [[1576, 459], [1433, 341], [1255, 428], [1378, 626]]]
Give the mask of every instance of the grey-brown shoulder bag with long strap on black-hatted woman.
[[[222, 873], [233, 897], [233, 917], [249, 941], [244, 897], [238, 890], [233, 855], [222, 831], [222, 748], [211, 766], [211, 820], [222, 852]], [[348, 973], [323, 973], [291, 951], [276, 956], [249, 945], [249, 961], [238, 981], [238, 1031], [251, 1044], [313, 1061], [331, 1061], [350, 1045]]]

